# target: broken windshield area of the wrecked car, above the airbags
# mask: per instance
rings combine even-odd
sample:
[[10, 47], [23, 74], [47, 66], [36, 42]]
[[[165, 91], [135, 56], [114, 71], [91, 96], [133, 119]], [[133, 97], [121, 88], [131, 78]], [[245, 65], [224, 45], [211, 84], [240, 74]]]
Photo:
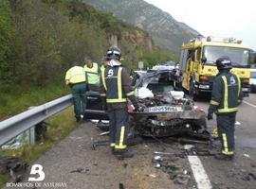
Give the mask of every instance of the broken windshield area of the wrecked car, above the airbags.
[[148, 88], [153, 94], [174, 91], [174, 84], [168, 77], [145, 77], [142, 81], [142, 87]]

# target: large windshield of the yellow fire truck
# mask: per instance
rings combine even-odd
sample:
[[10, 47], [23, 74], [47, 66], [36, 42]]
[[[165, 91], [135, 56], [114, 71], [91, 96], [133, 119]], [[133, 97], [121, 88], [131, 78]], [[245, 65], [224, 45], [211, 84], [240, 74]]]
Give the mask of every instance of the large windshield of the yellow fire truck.
[[214, 64], [222, 56], [228, 56], [234, 67], [247, 67], [249, 65], [249, 51], [244, 48], [229, 46], [205, 46], [204, 56], [207, 64]]

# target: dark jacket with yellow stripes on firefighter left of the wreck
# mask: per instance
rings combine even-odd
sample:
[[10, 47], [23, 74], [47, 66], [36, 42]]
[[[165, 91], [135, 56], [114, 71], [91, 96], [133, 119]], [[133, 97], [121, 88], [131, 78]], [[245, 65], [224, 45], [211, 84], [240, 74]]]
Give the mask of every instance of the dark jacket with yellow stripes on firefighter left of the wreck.
[[108, 65], [101, 72], [100, 94], [106, 98], [107, 103], [113, 105], [127, 104], [129, 98], [136, 104], [135, 92], [132, 90], [131, 79], [126, 69], [120, 65]]

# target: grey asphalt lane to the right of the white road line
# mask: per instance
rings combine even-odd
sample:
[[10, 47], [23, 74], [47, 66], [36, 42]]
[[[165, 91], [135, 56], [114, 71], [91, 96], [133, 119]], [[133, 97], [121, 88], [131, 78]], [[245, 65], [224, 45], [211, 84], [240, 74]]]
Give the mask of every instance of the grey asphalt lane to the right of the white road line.
[[[208, 102], [196, 104], [208, 109]], [[210, 129], [216, 126], [214, 120], [208, 123]], [[211, 157], [201, 158], [214, 188], [256, 188], [256, 94], [244, 98], [237, 121], [234, 161], [227, 163]]]

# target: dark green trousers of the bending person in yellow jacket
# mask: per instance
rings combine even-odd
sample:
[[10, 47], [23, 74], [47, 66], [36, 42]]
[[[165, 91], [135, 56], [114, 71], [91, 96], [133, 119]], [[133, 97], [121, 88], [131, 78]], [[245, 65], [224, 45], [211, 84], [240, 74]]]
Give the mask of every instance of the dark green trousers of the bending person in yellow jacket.
[[86, 83], [73, 84], [71, 92], [73, 95], [75, 116], [76, 118], [80, 118], [86, 107]]

